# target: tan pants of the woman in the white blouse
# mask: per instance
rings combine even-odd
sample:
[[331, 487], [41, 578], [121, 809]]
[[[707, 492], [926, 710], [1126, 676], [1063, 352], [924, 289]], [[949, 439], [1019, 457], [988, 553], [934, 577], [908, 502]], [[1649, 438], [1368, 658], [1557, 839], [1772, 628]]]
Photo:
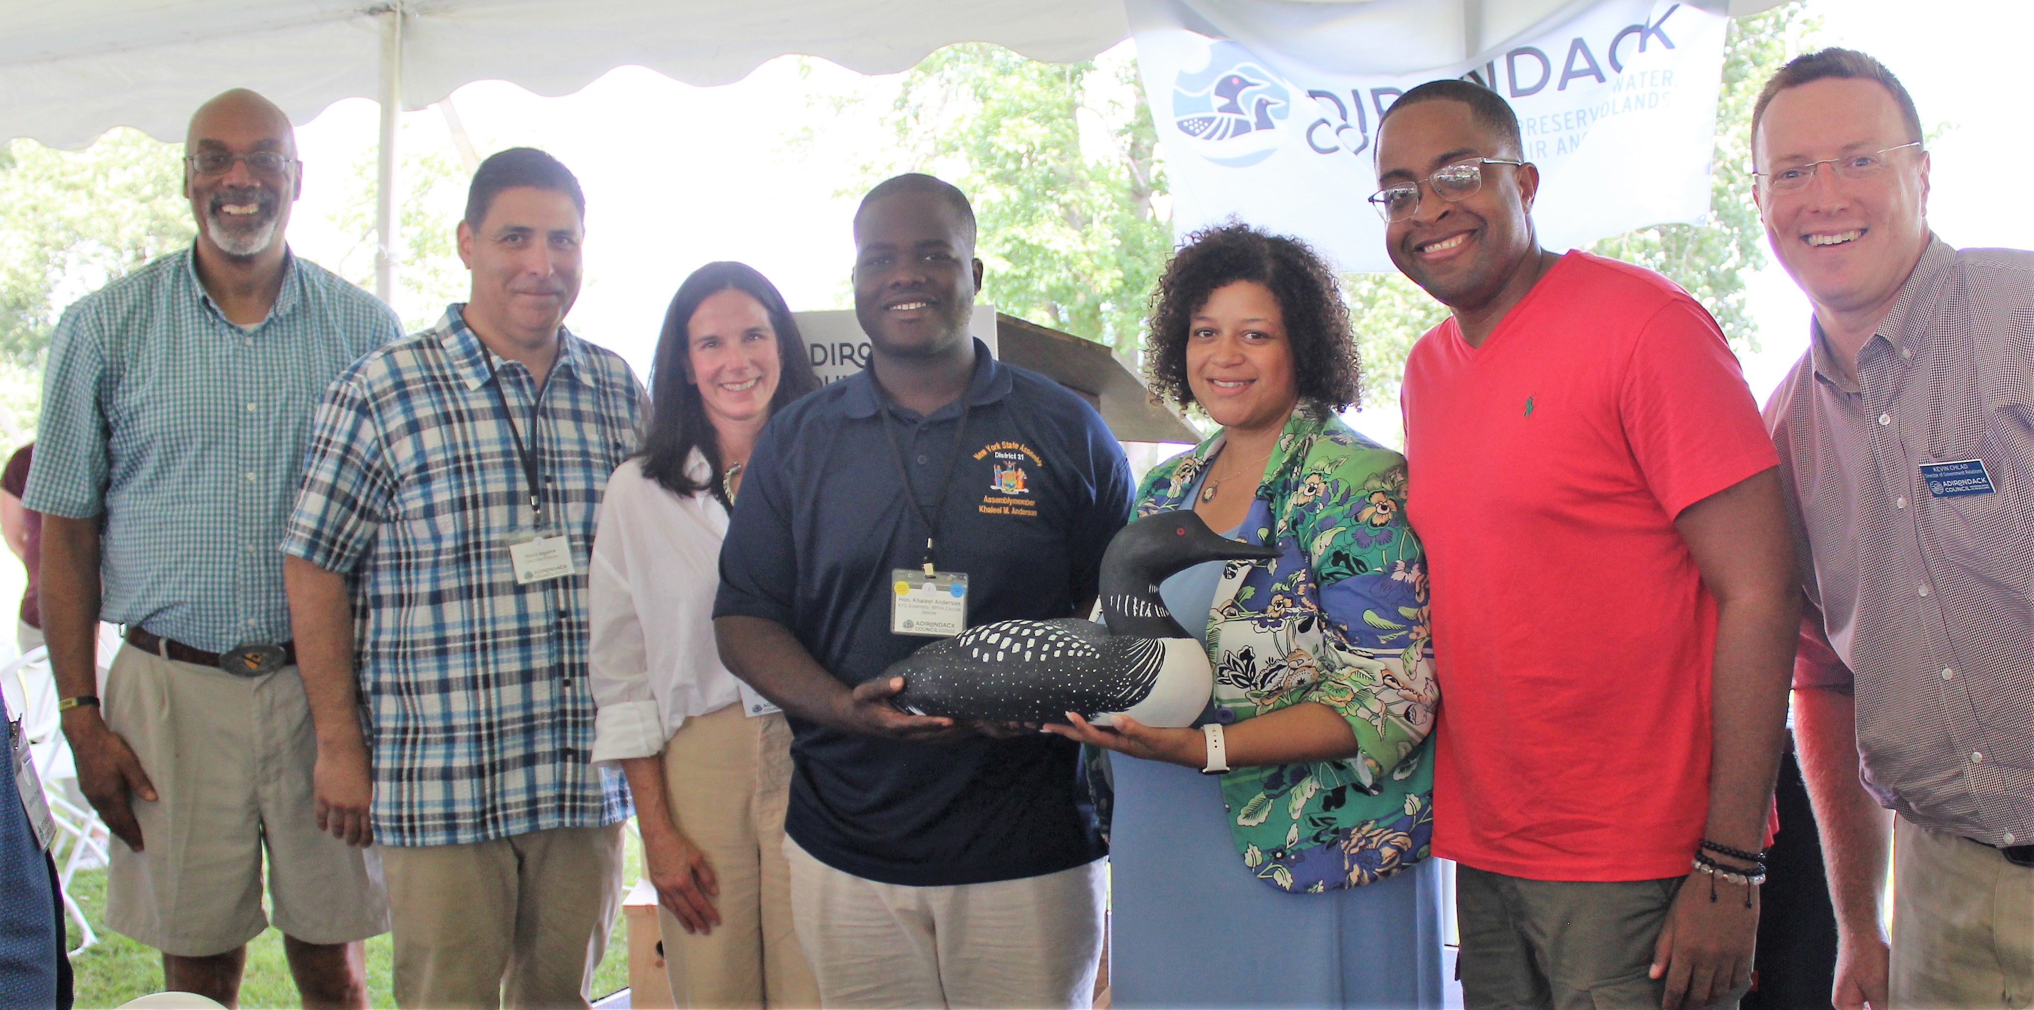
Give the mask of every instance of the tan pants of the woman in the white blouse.
[[791, 927], [783, 810], [791, 796], [791, 727], [740, 705], [685, 719], [663, 747], [671, 817], [714, 867], [720, 927], [685, 933], [657, 908], [663, 963], [679, 1008], [820, 1006]]

